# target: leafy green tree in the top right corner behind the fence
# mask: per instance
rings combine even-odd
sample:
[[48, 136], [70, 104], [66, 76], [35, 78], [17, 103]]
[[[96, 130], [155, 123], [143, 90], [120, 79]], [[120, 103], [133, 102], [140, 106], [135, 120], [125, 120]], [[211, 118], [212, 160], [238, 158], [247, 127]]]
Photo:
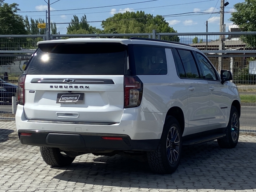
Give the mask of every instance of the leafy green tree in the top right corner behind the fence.
[[[243, 31], [256, 31], [256, 1], [245, 0], [243, 3], [236, 3], [234, 8], [237, 11], [231, 13], [231, 18], [229, 20], [235, 25], [238, 25]], [[249, 46], [256, 46], [255, 35], [242, 35], [240, 38]]]

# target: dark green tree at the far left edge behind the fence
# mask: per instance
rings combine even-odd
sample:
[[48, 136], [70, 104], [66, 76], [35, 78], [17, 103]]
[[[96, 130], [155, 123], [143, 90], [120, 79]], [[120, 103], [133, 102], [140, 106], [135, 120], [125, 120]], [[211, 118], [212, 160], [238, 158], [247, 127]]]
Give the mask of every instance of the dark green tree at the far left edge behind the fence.
[[[4, 3], [0, 0], [0, 35], [24, 35], [25, 30], [24, 20], [17, 13], [20, 9], [17, 3]], [[15, 51], [23, 47], [24, 40], [21, 38], [0, 38], [1, 51]], [[13, 62], [15, 57], [0, 56], [0, 65], [7, 65]]]

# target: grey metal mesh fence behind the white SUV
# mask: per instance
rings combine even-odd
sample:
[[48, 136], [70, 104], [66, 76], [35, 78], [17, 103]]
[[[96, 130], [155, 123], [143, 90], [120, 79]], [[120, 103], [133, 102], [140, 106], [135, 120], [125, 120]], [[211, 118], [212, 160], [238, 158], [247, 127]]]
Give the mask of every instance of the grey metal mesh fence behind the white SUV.
[[[58, 34], [50, 37], [146, 37], [190, 44], [204, 52], [217, 70], [232, 71], [233, 83], [242, 101], [241, 130], [256, 132], [256, 74], [249, 73], [250, 61], [256, 61], [255, 36], [256, 32], [156, 33], [153, 30], [138, 34]], [[0, 35], [0, 114], [12, 113], [11, 96], [15, 94], [14, 89], [3, 89], [3, 81], [17, 85], [19, 75], [37, 48], [36, 43], [45, 39], [45, 35]]]

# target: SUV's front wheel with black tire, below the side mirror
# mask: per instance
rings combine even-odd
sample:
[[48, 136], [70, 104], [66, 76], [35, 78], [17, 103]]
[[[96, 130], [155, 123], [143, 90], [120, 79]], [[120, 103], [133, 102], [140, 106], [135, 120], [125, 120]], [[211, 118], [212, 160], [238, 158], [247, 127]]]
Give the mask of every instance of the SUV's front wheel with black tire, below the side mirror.
[[[237, 123], [235, 123], [236, 121], [235, 117], [236, 117]], [[238, 112], [234, 106], [231, 106], [229, 122], [225, 130], [226, 136], [224, 138], [218, 139], [219, 146], [225, 149], [234, 148], [238, 142], [239, 130], [240, 130], [240, 123], [239, 123]]]

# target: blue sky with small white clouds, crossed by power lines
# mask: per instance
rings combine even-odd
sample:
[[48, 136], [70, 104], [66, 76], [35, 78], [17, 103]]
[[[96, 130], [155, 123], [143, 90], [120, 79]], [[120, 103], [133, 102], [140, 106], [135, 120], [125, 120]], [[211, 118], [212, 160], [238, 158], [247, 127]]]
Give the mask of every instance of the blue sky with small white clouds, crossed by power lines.
[[[47, 0], [46, 0], [47, 1]], [[56, 0], [51, 0], [53, 3]], [[105, 8], [93, 8], [84, 10], [68, 10], [68, 11], [56, 11], [62, 9], [76, 9], [76, 8], [88, 8], [88, 7], [98, 7], [98, 6], [108, 6], [126, 3], [135, 3], [146, 0], [60, 0], [51, 5], [51, 21], [56, 23], [67, 23], [73, 18], [73, 14], [76, 14], [78, 18], [86, 14], [88, 21], [102, 21], [108, 17], [113, 16], [114, 13], [123, 12], [125, 10], [137, 11], [142, 10], [146, 13], [151, 13], [154, 16], [159, 15], [169, 15], [178, 14], [184, 12], [217, 12], [220, 10], [221, 0], [211, 0], [207, 2], [193, 3], [205, 0], [158, 0], [153, 2], [145, 2], [131, 5], [113, 6]], [[44, 0], [5, 0], [6, 3], [16, 2], [19, 4], [21, 11], [42, 11], [47, 9], [47, 4]], [[244, 0], [228, 0], [229, 5], [225, 7], [225, 11], [233, 10], [233, 5], [239, 2], [244, 2]], [[190, 3], [190, 4], [185, 4]], [[183, 4], [183, 5], [174, 5]], [[173, 6], [170, 6], [173, 5]], [[164, 6], [164, 7], [157, 7]], [[216, 6], [216, 8], [215, 8]], [[149, 8], [154, 7], [154, 8]], [[101, 12], [101, 13], [95, 13]], [[21, 15], [32, 17], [33, 19], [43, 18], [45, 19], [45, 12], [20, 12]], [[232, 23], [228, 21], [230, 18], [230, 13], [225, 13], [225, 24], [227, 26], [226, 31], [228, 31], [228, 25]], [[210, 18], [210, 19], [209, 19]], [[209, 19], [209, 20], [208, 20]], [[179, 16], [179, 17], [165, 17], [165, 20], [178, 32], [205, 32], [205, 21], [209, 21], [209, 32], [218, 32], [220, 23], [220, 14], [205, 14], [205, 15], [190, 15], [190, 16]], [[101, 28], [101, 22], [90, 23], [90, 25], [97, 28]], [[66, 27], [68, 24], [57, 24], [57, 30], [61, 34], [66, 34]]]

